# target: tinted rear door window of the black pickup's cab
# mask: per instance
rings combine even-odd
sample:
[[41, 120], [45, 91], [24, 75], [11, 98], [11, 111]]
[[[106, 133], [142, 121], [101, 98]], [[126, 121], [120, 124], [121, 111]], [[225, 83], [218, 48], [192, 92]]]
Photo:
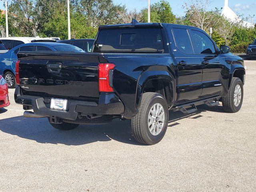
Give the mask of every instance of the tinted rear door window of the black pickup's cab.
[[184, 54], [194, 54], [192, 44], [188, 35], [188, 30], [173, 28], [172, 33], [174, 36], [176, 48]]

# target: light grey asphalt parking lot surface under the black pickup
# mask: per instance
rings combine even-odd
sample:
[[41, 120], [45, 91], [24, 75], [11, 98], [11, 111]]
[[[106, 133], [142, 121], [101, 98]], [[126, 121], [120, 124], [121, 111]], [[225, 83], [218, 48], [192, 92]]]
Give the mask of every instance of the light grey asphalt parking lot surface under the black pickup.
[[11, 105], [0, 109], [0, 191], [256, 191], [256, 61], [246, 66], [240, 112], [170, 112], [154, 146], [138, 144], [128, 120], [63, 132], [24, 118], [10, 90]]

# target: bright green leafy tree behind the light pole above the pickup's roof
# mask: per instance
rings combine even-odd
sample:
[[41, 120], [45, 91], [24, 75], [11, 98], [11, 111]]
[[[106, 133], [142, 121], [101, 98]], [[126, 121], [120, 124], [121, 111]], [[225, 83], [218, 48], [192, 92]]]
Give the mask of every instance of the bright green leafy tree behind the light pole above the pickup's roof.
[[[150, 21], [161, 23], [175, 23], [176, 17], [172, 13], [172, 8], [169, 2], [161, 0], [150, 6]], [[142, 22], [148, 22], [148, 9], [142, 10]]]

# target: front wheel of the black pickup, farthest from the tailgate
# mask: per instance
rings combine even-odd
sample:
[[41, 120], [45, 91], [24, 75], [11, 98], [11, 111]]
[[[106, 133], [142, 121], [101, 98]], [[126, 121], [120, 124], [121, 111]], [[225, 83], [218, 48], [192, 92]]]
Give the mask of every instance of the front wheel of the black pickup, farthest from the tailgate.
[[240, 78], [233, 77], [229, 92], [222, 98], [222, 105], [226, 112], [236, 113], [241, 109], [244, 98], [243, 83]]

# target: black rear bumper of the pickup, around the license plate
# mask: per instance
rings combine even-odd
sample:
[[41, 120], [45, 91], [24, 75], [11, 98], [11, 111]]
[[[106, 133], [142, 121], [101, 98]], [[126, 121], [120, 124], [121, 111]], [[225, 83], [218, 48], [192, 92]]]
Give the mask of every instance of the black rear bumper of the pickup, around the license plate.
[[62, 119], [76, 120], [78, 113], [99, 115], [120, 115], [124, 112], [124, 105], [114, 93], [101, 93], [99, 102], [68, 100], [66, 111], [50, 109], [50, 103], [44, 102], [44, 97], [22, 95], [20, 86], [15, 89], [14, 99], [17, 104], [29, 106], [35, 114], [55, 116]]

